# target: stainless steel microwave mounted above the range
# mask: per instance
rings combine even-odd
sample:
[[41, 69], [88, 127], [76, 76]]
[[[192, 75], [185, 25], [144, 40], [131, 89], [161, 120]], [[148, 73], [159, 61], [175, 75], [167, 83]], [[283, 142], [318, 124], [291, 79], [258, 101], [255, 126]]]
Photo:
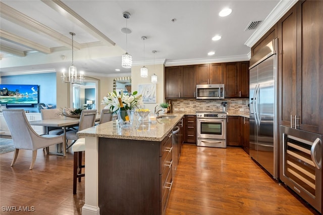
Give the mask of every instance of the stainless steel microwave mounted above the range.
[[196, 85], [196, 99], [223, 99], [224, 84]]

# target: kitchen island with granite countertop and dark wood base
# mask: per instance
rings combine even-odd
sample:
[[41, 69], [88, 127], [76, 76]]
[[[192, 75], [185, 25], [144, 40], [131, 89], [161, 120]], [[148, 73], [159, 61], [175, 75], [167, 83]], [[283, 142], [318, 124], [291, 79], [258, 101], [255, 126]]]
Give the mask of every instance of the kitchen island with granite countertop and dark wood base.
[[183, 116], [78, 132], [86, 152], [82, 214], [163, 214], [173, 183], [171, 134]]

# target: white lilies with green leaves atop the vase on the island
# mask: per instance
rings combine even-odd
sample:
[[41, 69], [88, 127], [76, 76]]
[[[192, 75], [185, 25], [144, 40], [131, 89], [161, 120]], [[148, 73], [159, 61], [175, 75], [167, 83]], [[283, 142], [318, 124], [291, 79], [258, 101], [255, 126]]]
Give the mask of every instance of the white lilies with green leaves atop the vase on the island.
[[109, 109], [111, 113], [116, 113], [120, 108], [118, 98], [121, 97], [122, 103], [126, 110], [134, 110], [142, 105], [142, 95], [137, 95], [137, 91], [134, 91], [131, 95], [118, 95], [114, 90], [113, 92], [107, 93], [106, 97], [103, 97], [101, 104], [105, 104], [104, 109]]

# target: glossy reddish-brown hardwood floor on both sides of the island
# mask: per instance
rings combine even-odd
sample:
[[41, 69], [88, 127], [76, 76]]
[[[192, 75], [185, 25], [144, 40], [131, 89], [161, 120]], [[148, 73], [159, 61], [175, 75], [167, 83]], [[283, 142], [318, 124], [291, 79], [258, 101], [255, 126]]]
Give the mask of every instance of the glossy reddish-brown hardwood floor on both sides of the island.
[[[45, 155], [38, 150], [0, 155], [1, 214], [81, 214], [84, 178], [73, 195], [73, 154]], [[185, 144], [166, 214], [318, 214], [278, 185], [241, 148]], [[7, 212], [3, 206], [34, 206], [34, 212]]]

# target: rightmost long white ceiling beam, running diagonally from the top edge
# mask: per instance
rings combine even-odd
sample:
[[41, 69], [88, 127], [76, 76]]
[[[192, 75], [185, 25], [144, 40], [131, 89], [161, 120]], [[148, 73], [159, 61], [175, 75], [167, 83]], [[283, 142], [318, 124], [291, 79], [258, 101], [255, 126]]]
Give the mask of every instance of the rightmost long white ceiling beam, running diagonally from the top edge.
[[83, 28], [85, 31], [90, 33], [92, 36], [94, 36], [96, 39], [98, 39], [105, 45], [114, 46], [116, 44], [109, 37], [105, 36], [102, 32], [100, 32], [97, 28], [95, 28], [93, 25], [91, 25], [89, 22], [83, 19], [80, 15], [75, 13], [75, 11], [73, 11], [71, 8], [69, 8], [60, 0], [51, 0], [51, 1], [41, 0], [41, 2], [43, 2], [47, 6], [49, 6], [50, 8], [54, 9], [59, 14], [64, 16], [65, 18], [69, 19], [73, 23]]

